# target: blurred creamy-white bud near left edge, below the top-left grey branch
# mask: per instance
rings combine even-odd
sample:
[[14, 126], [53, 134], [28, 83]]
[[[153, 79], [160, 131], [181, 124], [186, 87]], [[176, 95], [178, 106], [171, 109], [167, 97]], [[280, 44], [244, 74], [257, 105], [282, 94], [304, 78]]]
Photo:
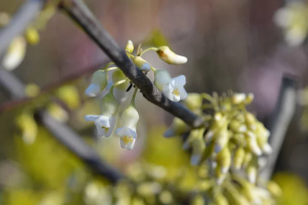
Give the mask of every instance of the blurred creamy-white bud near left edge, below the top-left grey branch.
[[21, 65], [26, 56], [27, 42], [23, 36], [16, 36], [3, 57], [2, 65], [6, 70], [14, 70]]

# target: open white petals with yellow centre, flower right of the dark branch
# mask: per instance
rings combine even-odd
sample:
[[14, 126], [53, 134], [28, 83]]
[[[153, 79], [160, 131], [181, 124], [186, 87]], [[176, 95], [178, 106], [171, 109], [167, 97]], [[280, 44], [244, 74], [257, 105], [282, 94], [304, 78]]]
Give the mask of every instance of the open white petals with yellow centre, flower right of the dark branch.
[[175, 102], [183, 100], [187, 97], [187, 92], [184, 89], [186, 79], [184, 75], [180, 75], [176, 78], [171, 78], [170, 82], [163, 87], [164, 95]]

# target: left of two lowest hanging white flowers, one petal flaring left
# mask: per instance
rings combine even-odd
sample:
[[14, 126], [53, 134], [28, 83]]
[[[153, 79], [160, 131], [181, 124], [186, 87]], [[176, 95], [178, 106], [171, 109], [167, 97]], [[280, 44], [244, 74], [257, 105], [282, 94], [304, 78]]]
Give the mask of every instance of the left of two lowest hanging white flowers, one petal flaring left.
[[119, 109], [119, 103], [112, 93], [106, 94], [100, 102], [102, 115], [86, 115], [86, 121], [94, 121], [99, 136], [109, 137], [114, 129], [115, 116]]

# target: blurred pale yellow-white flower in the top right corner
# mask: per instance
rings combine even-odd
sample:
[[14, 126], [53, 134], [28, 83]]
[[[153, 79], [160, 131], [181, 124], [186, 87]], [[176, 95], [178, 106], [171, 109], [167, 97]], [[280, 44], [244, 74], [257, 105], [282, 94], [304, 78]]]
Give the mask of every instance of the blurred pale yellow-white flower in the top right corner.
[[285, 41], [290, 46], [299, 46], [308, 33], [308, 8], [304, 2], [291, 2], [274, 15], [274, 22], [284, 31]]

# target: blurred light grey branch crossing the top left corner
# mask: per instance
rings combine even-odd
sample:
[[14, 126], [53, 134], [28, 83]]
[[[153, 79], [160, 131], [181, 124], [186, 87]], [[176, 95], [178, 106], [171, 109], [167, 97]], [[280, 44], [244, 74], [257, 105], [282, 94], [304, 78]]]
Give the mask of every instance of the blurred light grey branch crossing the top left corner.
[[26, 1], [11, 22], [0, 30], [0, 57], [6, 52], [13, 38], [23, 33], [28, 24], [43, 9], [46, 2], [47, 0]]

